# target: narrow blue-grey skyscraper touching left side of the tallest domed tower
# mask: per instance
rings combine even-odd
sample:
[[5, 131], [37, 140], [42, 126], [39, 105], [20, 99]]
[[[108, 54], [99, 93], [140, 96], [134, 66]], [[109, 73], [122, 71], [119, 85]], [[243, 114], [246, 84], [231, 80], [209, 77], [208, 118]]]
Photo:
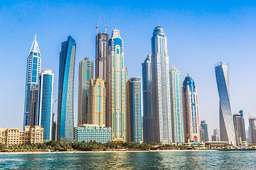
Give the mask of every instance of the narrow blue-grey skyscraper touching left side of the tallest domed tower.
[[153, 133], [153, 103], [152, 103], [152, 74], [151, 56], [147, 55], [142, 62], [142, 88], [143, 88], [143, 141], [146, 143], [154, 142]]

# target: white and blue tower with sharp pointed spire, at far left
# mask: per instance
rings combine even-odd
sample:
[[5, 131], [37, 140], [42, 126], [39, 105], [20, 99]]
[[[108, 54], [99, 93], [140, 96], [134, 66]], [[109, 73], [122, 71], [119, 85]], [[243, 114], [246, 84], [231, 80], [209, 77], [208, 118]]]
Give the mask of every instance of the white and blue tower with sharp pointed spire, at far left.
[[26, 90], [25, 90], [25, 104], [24, 104], [24, 117], [23, 126], [28, 125], [28, 115], [30, 106], [30, 93], [33, 85], [38, 84], [39, 74], [41, 71], [41, 53], [38, 47], [38, 42], [35, 40], [31, 46], [28, 54], [27, 69], [26, 69]]

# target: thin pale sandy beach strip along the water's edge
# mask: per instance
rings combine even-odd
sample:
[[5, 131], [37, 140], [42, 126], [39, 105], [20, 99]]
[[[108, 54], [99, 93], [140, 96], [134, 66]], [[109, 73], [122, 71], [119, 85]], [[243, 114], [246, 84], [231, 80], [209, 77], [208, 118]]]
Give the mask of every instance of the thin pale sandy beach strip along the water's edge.
[[215, 149], [172, 149], [172, 150], [149, 150], [149, 151], [67, 151], [67, 152], [0, 152], [0, 154], [84, 154], [84, 153], [125, 153], [125, 152], [206, 152], [218, 151]]

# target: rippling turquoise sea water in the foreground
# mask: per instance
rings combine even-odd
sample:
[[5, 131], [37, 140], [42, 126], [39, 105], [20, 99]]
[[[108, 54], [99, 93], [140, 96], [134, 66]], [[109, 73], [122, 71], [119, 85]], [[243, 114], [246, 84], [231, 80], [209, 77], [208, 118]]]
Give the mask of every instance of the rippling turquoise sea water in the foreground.
[[0, 154], [0, 169], [256, 169], [256, 152]]

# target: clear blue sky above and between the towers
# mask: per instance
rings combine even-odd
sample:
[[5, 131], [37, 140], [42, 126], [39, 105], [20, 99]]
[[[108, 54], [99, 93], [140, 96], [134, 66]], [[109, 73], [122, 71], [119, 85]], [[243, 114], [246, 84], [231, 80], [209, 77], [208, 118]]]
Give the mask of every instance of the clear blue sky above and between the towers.
[[[256, 116], [255, 1], [0, 1], [0, 126], [22, 128], [26, 59], [37, 34], [42, 69], [53, 69], [58, 89], [61, 42], [77, 42], [75, 125], [78, 106], [78, 62], [95, 60], [96, 23], [105, 15], [107, 33], [116, 26], [124, 40], [129, 77], [141, 77], [141, 63], [151, 52], [151, 36], [159, 21], [168, 38], [169, 64], [190, 74], [198, 88], [200, 120], [209, 135], [218, 125], [218, 90], [214, 64], [230, 65], [233, 113]], [[100, 30], [104, 30], [103, 22]], [[54, 106], [57, 112], [57, 104]], [[247, 127], [246, 127], [247, 128]]]

